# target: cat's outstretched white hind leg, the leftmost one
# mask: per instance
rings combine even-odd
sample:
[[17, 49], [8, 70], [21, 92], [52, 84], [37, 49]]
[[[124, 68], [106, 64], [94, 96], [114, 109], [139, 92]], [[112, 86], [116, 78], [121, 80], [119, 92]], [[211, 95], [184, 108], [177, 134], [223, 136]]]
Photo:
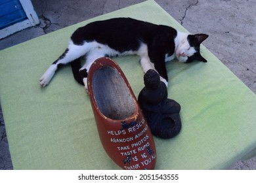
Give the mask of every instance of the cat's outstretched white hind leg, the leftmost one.
[[70, 41], [70, 44], [68, 45], [68, 48], [66, 48], [66, 51], [58, 59], [56, 59], [56, 61], [54, 61], [52, 65], [50, 65], [47, 71], [45, 71], [43, 76], [41, 76], [39, 84], [43, 87], [47, 86], [47, 84], [49, 84], [49, 82], [53, 78], [54, 73], [60, 66], [70, 63], [77, 58], [80, 58], [81, 56], [85, 55], [86, 52], [87, 48], [85, 44], [76, 45], [72, 41]]

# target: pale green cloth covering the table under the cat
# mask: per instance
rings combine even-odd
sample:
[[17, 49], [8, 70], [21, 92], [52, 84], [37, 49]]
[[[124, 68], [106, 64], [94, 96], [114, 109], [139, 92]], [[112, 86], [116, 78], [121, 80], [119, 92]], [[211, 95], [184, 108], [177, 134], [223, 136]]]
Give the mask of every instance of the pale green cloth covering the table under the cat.
[[[1, 50], [0, 100], [14, 169], [119, 169], [100, 144], [89, 96], [70, 66], [47, 88], [39, 86], [77, 27], [114, 17], [186, 31], [146, 1]], [[202, 56], [208, 63], [167, 63], [169, 98], [181, 104], [182, 130], [174, 139], [154, 138], [156, 169], [226, 169], [256, 147], [255, 93], [204, 46]], [[144, 87], [139, 57], [114, 60], [138, 96]]]

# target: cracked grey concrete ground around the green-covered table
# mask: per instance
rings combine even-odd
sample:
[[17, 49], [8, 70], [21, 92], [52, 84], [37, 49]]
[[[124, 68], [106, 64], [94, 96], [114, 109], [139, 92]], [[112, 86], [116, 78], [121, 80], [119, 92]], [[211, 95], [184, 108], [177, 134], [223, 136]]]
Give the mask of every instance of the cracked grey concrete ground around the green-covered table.
[[[155, 0], [190, 33], [207, 33], [203, 44], [256, 93], [255, 0]], [[0, 50], [62, 27], [106, 14], [143, 0], [32, 0], [41, 24], [0, 40]], [[12, 169], [0, 108], [0, 169]], [[256, 157], [230, 169], [256, 169]]]

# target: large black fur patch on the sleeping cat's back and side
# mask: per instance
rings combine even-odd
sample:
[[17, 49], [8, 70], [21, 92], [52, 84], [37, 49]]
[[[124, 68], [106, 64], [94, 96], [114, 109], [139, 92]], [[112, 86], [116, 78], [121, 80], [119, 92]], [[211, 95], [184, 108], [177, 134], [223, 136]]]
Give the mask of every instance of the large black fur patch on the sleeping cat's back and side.
[[[154, 47], [158, 42], [168, 42], [168, 52], [174, 51], [173, 40], [177, 31], [165, 25], [155, 25], [132, 18], [112, 18], [98, 22], [92, 22], [78, 28], [71, 36], [74, 44], [81, 45], [85, 41], [96, 41], [107, 44], [110, 48], [119, 52], [137, 50], [140, 42]], [[157, 37], [156, 37], [157, 36]], [[169, 51], [169, 47], [171, 51]]]

